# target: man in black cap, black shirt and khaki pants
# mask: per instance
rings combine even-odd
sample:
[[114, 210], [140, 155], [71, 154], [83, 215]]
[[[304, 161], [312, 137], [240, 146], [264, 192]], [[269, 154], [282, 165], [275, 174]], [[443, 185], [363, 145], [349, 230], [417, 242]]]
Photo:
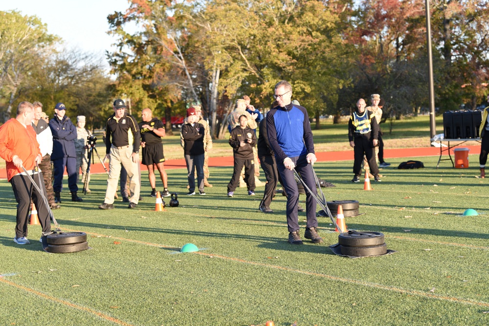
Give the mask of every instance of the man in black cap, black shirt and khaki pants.
[[129, 198], [128, 208], [135, 208], [139, 200], [140, 183], [138, 173], [139, 146], [141, 134], [136, 119], [126, 113], [126, 104], [117, 99], [113, 104], [112, 114], [105, 125], [106, 153], [105, 160], [109, 161], [109, 178], [107, 179], [107, 192], [100, 209], [114, 208], [114, 195], [117, 191], [117, 181], [121, 172], [121, 164], [129, 177], [129, 190], [133, 196]]

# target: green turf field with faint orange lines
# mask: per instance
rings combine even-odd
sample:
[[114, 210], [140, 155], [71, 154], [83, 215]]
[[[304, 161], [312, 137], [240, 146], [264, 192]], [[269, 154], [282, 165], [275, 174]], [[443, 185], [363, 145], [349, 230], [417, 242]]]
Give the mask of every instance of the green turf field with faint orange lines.
[[[29, 227], [30, 245], [13, 242], [15, 200], [3, 181], [0, 325], [487, 325], [489, 181], [475, 177], [476, 155], [464, 170], [418, 159], [425, 169], [383, 169], [370, 192], [350, 182], [352, 161], [315, 165], [336, 185], [328, 200], [360, 202], [365, 214], [347, 217], [349, 229], [383, 232], [397, 251], [359, 259], [331, 252], [337, 233], [324, 217], [323, 244], [290, 245], [285, 197], [269, 215], [257, 209], [263, 187], [227, 198], [230, 167], [212, 168], [214, 187], [193, 197], [185, 171], [168, 171], [181, 196], [164, 212], [154, 211], [146, 174], [138, 209], [99, 210], [106, 176], [93, 175], [83, 203], [54, 211], [64, 230], [88, 234], [91, 249], [72, 254], [44, 253], [40, 226]], [[480, 215], [461, 216], [467, 208]], [[179, 253], [189, 242], [200, 251]]]

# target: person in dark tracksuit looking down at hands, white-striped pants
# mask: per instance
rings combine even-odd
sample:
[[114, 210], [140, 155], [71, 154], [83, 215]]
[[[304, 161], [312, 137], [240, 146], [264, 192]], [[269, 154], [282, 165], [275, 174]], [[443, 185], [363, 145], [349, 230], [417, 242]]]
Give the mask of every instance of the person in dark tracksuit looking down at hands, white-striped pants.
[[239, 117], [240, 125], [231, 130], [229, 145], [233, 148], [234, 171], [231, 181], [227, 185], [227, 196], [232, 197], [239, 185], [241, 170], [244, 165], [244, 182], [248, 187], [248, 195], [255, 195], [255, 166], [253, 161], [253, 147], [256, 144], [255, 131], [248, 127], [248, 117]]

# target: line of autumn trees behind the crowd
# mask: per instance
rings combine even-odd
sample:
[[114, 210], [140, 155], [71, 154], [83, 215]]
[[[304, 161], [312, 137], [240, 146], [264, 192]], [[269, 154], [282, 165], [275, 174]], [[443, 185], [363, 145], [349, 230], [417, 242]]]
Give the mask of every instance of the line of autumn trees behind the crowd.
[[[488, 2], [430, 3], [440, 112], [461, 104], [474, 109], [488, 94]], [[293, 98], [316, 118], [315, 128], [321, 115], [333, 115], [337, 122], [358, 98], [372, 93], [386, 101], [384, 119], [416, 115], [429, 104], [424, 1], [133, 0], [127, 10], [109, 15], [108, 22], [117, 39], [117, 49], [107, 52], [115, 80], [104, 80], [102, 74], [101, 84], [83, 87], [98, 113], [110, 109], [104, 95], [125, 94], [133, 108], [166, 117], [171, 130], [171, 116], [200, 104], [214, 137], [222, 138], [236, 99], [249, 95], [255, 107], [267, 111], [273, 86], [282, 79], [291, 82]], [[55, 42], [39, 36], [36, 48], [44, 52]], [[53, 60], [59, 55], [45, 58], [46, 66], [60, 65], [62, 58]], [[21, 91], [11, 95], [14, 88], [9, 80], [3, 83], [4, 70], [2, 103]], [[54, 89], [62, 87], [53, 71], [51, 78], [27, 78], [34, 85], [22, 86], [23, 92], [35, 89], [39, 96], [45, 91], [56, 98]], [[83, 76], [93, 75], [87, 71]], [[82, 103], [66, 93], [74, 106]]]

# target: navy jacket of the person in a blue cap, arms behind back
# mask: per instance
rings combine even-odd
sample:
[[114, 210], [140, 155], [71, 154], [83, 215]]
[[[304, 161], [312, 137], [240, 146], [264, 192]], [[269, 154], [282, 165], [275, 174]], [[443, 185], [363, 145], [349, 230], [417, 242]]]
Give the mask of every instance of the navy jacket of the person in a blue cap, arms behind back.
[[51, 128], [51, 133], [53, 134], [51, 160], [76, 157], [76, 128], [71, 120], [66, 115], [61, 120], [55, 115], [54, 118], [49, 120], [49, 128]]

